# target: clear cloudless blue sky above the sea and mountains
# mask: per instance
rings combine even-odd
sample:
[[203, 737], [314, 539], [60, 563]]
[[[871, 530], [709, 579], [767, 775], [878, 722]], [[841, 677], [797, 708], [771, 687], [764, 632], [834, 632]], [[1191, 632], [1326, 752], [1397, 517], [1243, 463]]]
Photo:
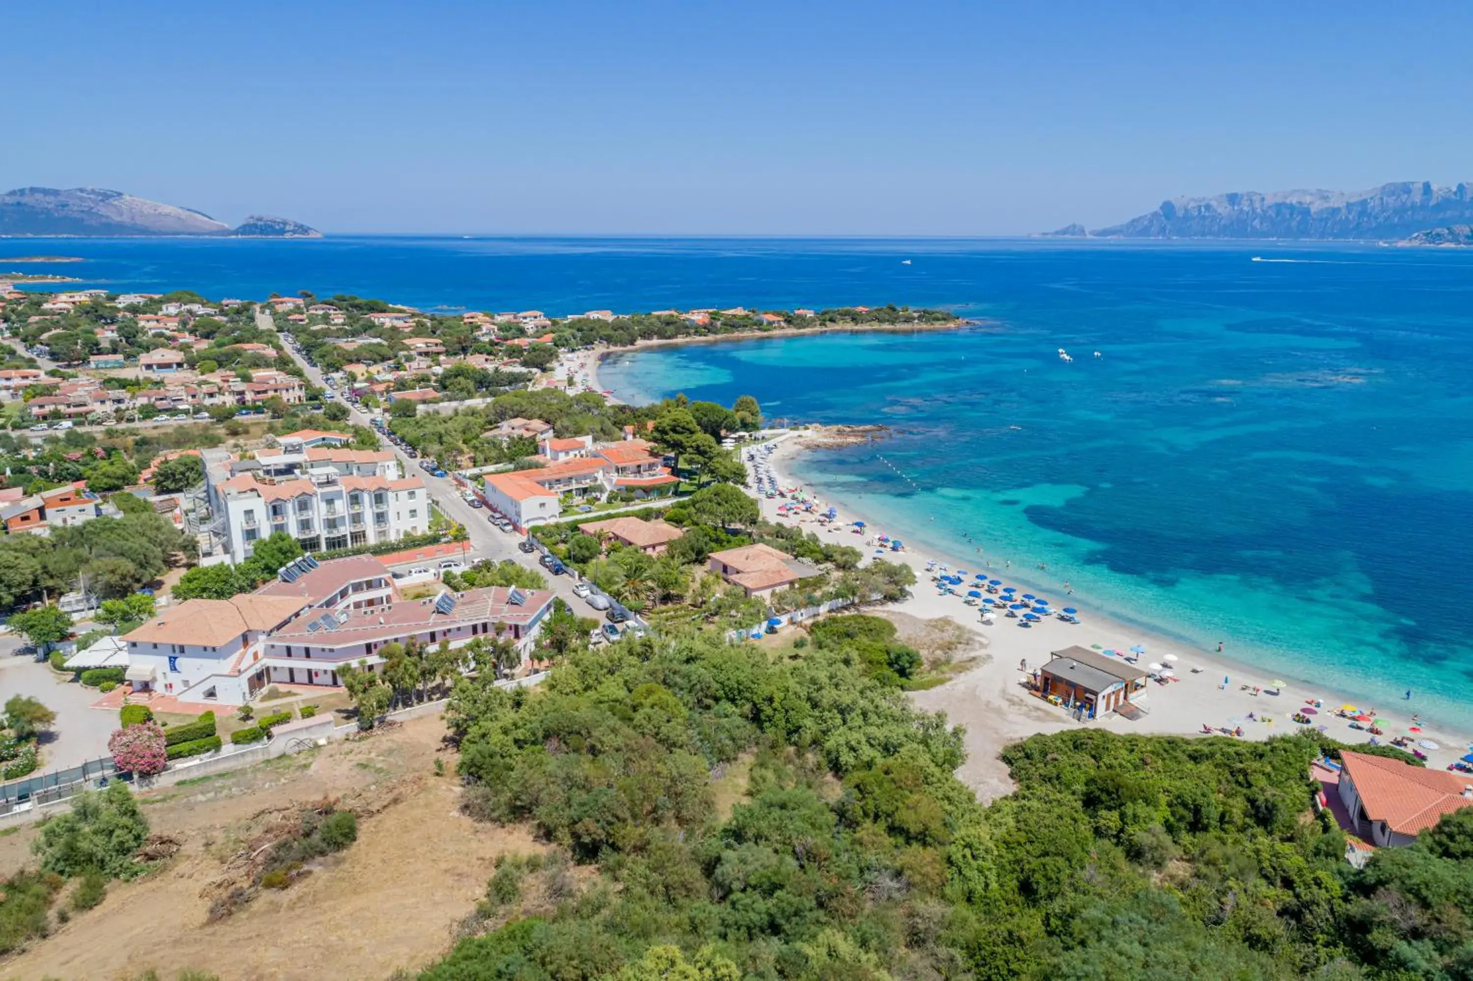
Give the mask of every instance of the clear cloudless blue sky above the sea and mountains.
[[1473, 4], [15, 3], [0, 184], [326, 231], [1019, 234], [1473, 180]]

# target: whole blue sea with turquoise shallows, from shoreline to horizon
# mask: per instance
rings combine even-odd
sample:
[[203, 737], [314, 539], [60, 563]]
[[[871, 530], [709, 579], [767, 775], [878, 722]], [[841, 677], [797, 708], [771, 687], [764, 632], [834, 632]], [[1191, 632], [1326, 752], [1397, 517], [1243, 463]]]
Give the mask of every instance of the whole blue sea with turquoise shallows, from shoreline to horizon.
[[[69, 255], [66, 265], [4, 256]], [[879, 423], [795, 463], [887, 530], [1286, 679], [1473, 728], [1473, 250], [1072, 240], [0, 240], [0, 272], [424, 309], [943, 306], [654, 348], [626, 401]], [[1065, 359], [1062, 355], [1068, 355]], [[1059, 600], [1055, 600], [1059, 602]], [[1404, 695], [1410, 692], [1410, 700]]]

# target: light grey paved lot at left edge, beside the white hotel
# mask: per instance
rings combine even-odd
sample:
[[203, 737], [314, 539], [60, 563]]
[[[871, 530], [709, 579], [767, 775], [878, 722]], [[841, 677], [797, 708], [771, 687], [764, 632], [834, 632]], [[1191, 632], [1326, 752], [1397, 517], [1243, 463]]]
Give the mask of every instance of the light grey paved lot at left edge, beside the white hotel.
[[41, 736], [41, 769], [35, 775], [108, 756], [108, 736], [118, 728], [118, 714], [91, 708], [100, 698], [97, 689], [82, 688], [29, 654], [16, 654], [19, 645], [13, 636], [0, 638], [0, 692], [4, 698], [40, 698], [56, 713], [52, 731]]

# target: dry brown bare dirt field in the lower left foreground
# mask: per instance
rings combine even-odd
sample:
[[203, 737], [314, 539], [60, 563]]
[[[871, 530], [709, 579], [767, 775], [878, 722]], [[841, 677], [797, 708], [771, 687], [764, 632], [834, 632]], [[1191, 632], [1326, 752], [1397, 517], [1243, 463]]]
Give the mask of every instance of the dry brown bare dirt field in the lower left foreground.
[[[451, 775], [433, 770], [443, 726], [417, 719], [362, 742], [143, 800], [158, 832], [184, 838], [161, 872], [113, 884], [102, 906], [72, 918], [47, 940], [0, 963], [0, 978], [115, 978], [184, 968], [222, 981], [268, 978], [384, 978], [415, 969], [451, 944], [451, 929], [485, 893], [495, 857], [541, 850], [521, 829], [477, 825], [457, 809]], [[233, 916], [206, 924], [206, 894], [222, 859], [262, 812], [323, 797], [371, 801], [358, 841], [284, 891], [261, 896]], [[0, 840], [0, 872], [28, 860], [34, 831]]]

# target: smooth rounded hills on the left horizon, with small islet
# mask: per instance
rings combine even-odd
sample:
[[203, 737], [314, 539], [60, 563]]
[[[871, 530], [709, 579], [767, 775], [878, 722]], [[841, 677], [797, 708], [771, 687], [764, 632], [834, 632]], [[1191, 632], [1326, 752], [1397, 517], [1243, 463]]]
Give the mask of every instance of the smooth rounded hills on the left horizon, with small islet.
[[102, 187], [21, 187], [0, 194], [0, 236], [320, 239], [323, 233], [299, 221], [264, 215], [252, 215], [231, 228], [193, 208]]

